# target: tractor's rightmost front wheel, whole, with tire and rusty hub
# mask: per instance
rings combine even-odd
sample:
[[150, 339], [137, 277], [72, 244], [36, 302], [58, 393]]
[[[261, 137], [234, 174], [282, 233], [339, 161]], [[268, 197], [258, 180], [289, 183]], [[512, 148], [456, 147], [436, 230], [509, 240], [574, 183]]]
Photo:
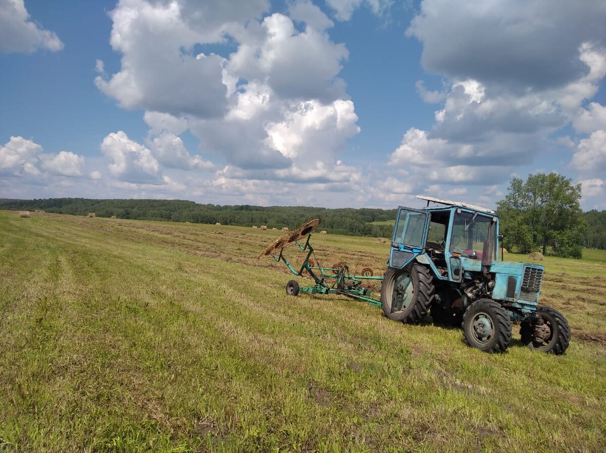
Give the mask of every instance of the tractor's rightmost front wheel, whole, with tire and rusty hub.
[[564, 315], [548, 306], [539, 306], [536, 314], [535, 322], [526, 320], [520, 326], [522, 343], [536, 351], [564, 354], [570, 343], [570, 326]]

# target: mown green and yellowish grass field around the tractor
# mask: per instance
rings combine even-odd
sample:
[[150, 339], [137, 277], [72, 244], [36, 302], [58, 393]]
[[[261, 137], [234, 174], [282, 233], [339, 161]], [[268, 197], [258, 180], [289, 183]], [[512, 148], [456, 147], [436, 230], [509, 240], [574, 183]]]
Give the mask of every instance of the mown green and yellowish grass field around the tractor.
[[[605, 262], [545, 259], [565, 355], [517, 335], [488, 355], [430, 319], [286, 296], [256, 259], [278, 234], [0, 211], [0, 451], [606, 451]], [[376, 239], [313, 243], [385, 267]]]

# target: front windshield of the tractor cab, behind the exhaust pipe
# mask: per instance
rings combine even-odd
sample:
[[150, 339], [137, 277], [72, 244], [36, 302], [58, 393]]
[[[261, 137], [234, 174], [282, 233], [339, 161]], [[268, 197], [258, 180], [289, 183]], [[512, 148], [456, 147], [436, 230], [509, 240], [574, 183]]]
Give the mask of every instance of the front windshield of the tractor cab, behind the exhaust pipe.
[[[488, 226], [493, 217], [480, 213], [455, 213], [450, 237], [450, 251], [476, 259], [482, 259], [484, 241], [488, 239]], [[496, 227], [492, 228], [492, 241], [496, 244]], [[494, 251], [493, 251], [494, 256]]]

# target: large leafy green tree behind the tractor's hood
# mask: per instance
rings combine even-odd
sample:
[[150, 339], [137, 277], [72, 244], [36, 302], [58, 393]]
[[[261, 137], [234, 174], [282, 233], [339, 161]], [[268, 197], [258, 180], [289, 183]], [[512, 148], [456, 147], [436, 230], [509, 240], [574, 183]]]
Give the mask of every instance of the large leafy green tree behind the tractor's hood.
[[525, 181], [514, 178], [508, 192], [497, 203], [505, 248], [581, 258], [587, 226], [579, 205], [581, 184], [556, 173], [529, 174]]

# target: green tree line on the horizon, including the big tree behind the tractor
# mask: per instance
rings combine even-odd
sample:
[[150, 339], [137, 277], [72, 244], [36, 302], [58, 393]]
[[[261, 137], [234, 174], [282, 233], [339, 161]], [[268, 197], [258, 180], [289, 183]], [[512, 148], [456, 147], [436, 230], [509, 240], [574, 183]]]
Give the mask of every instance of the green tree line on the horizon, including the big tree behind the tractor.
[[[514, 178], [507, 195], [497, 203], [502, 244], [518, 253], [542, 251], [547, 255], [574, 258], [581, 258], [582, 247], [606, 250], [606, 211], [584, 213], [580, 201], [581, 185], [573, 185], [571, 179], [561, 174], [530, 174], [526, 180]], [[328, 233], [374, 237], [391, 237], [393, 225], [371, 222], [395, 220], [397, 212], [396, 209], [222, 206], [185, 200], [85, 198], [0, 199], [0, 209], [291, 229], [319, 217], [322, 229]]]

